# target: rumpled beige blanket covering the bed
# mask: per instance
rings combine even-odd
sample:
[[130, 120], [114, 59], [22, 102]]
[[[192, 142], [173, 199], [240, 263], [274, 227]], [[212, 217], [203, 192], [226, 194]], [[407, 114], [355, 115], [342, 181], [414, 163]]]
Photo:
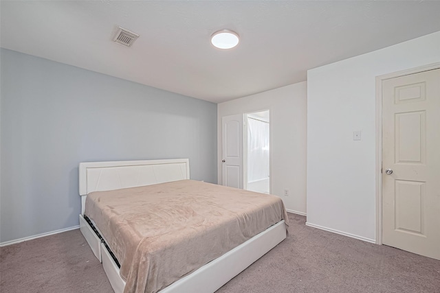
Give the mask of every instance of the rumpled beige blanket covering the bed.
[[124, 292], [157, 292], [281, 220], [278, 196], [194, 180], [97, 191], [93, 220], [121, 264]]

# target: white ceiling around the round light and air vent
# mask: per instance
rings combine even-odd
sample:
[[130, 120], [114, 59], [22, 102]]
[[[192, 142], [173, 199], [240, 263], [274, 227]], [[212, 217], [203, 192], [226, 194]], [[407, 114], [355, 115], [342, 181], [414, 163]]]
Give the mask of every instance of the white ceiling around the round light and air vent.
[[[1, 1], [1, 47], [225, 102], [440, 31], [440, 1]], [[140, 34], [113, 43], [117, 26]], [[212, 47], [221, 29], [238, 47]]]

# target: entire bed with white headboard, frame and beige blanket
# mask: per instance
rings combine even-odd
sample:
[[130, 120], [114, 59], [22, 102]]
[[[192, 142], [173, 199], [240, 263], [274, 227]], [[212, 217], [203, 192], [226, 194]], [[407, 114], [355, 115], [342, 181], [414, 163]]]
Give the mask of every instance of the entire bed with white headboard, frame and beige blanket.
[[[102, 262], [104, 271], [115, 292], [124, 292], [124, 289], [125, 292], [144, 292], [144, 287], [142, 287], [144, 285], [146, 286], [145, 292], [214, 292], [286, 237], [285, 219], [287, 217], [285, 217], [286, 213], [281, 199], [278, 199], [276, 196], [260, 198], [261, 195], [250, 191], [230, 189], [229, 187], [190, 180], [188, 159], [80, 163], [79, 179], [82, 202], [80, 231], [83, 233], [94, 255]], [[176, 205], [172, 206], [170, 202], [173, 202], [171, 196], [173, 196], [174, 192], [177, 192], [179, 197], [177, 201], [174, 200]], [[190, 203], [181, 202], [181, 200], [184, 200], [182, 195], [185, 195], [188, 198], [185, 200], [189, 200]], [[243, 196], [246, 196], [246, 202], [241, 200], [243, 207], [240, 207], [239, 198], [243, 198]], [[133, 213], [137, 213], [136, 217], [142, 215], [141, 220], [143, 222], [149, 222], [150, 224], [155, 222], [155, 220], [151, 220], [151, 217], [153, 217], [153, 212], [151, 211], [153, 210], [157, 211], [157, 214], [159, 214], [159, 211], [164, 210], [164, 215], [166, 216], [161, 215], [160, 217], [162, 218], [160, 218], [154, 215], [162, 220], [166, 220], [170, 213], [175, 213], [178, 217], [180, 216], [175, 224], [169, 225], [174, 227], [173, 231], [161, 234], [161, 237], [167, 235], [169, 239], [173, 239], [172, 241], [166, 239], [162, 242], [166, 244], [175, 242], [176, 246], [153, 251], [156, 242], [154, 245], [153, 242], [151, 244], [148, 242], [148, 244], [144, 245], [144, 239], [159, 239], [156, 235], [138, 237], [140, 231], [143, 231], [142, 226], [139, 225], [137, 226], [141, 227], [140, 231], [131, 232], [131, 228], [125, 228], [126, 222], [133, 222], [131, 221], [132, 218], [129, 218], [131, 215], [121, 213], [120, 211], [123, 209], [115, 213], [113, 205], [116, 206], [116, 202], [126, 208], [129, 200], [141, 198], [146, 200], [146, 202], [142, 204], [137, 203], [137, 205], [144, 205], [150, 210], [146, 213], [141, 213], [135, 211], [134, 206], [130, 210], [133, 210]], [[261, 208], [256, 208], [254, 211], [252, 206], [257, 204], [254, 203], [255, 200], [252, 198], [259, 202], [265, 201], [267, 203], [262, 204]], [[219, 204], [216, 200], [224, 202], [225, 206], [222, 207], [221, 204], [223, 203]], [[155, 209], [155, 204], [158, 201], [166, 201], [168, 203], [166, 209]], [[194, 209], [193, 211], [192, 205], [197, 206], [200, 202], [209, 202], [210, 208], [213, 209], [204, 211], [206, 207], [203, 207], [203, 210], [197, 211]], [[250, 207], [252, 207], [252, 210], [241, 213], [241, 209], [250, 209]], [[219, 209], [219, 211], [215, 209]], [[188, 210], [190, 215], [183, 217], [186, 214], [186, 210]], [[279, 215], [272, 215], [272, 210], [279, 213]], [[202, 213], [207, 214], [202, 215]], [[219, 217], [215, 218], [212, 216], [214, 220], [210, 220], [211, 215], [217, 213], [221, 213], [221, 218], [225, 219], [227, 218], [223, 217], [223, 214], [225, 216], [235, 214], [235, 218], [229, 218], [225, 222], [235, 223], [235, 226], [241, 227], [241, 231], [235, 231], [235, 228], [232, 226], [223, 226], [225, 225], [223, 222], [217, 221]], [[90, 215], [90, 218], [87, 214]], [[118, 220], [119, 222], [113, 220], [113, 215], [115, 214], [118, 214], [118, 217], [122, 214], [122, 222], [121, 220]], [[239, 216], [237, 217], [236, 215]], [[246, 219], [251, 215], [257, 220], [250, 221]], [[101, 216], [102, 218], [100, 218]], [[105, 218], [106, 216], [107, 218]], [[150, 220], [144, 220], [145, 217]], [[191, 221], [193, 219], [197, 220], [197, 217], [203, 219], [202, 222], [206, 222], [203, 223], [206, 224], [206, 228], [197, 224], [198, 222], [186, 224], [185, 221], [188, 221], [188, 219]], [[162, 220], [156, 222], [159, 223]], [[267, 223], [264, 221], [267, 221]], [[184, 222], [184, 224], [180, 224], [181, 222]], [[248, 224], [243, 225], [243, 223]], [[136, 226], [136, 224], [133, 226]], [[166, 226], [166, 224], [162, 226]], [[161, 226], [156, 225], [154, 227], [145, 228], [144, 231], [147, 231], [147, 234], [150, 231], [161, 231]], [[187, 230], [181, 231], [183, 228]], [[252, 232], [250, 232], [251, 228], [253, 229]], [[217, 229], [217, 231], [214, 231], [214, 229]], [[212, 236], [214, 232], [215, 236]], [[256, 235], [251, 235], [250, 233], [256, 233]], [[134, 238], [137, 237], [133, 241], [139, 241], [140, 239], [141, 241], [133, 242], [134, 244], [124, 244], [130, 243], [131, 240], [129, 239], [131, 237], [129, 235], [135, 235]], [[170, 235], [173, 237], [170, 237]], [[192, 235], [194, 237], [198, 235], [201, 238], [193, 239]], [[215, 242], [212, 242], [213, 237]], [[230, 239], [238, 241], [237, 243], [239, 244], [234, 244], [232, 240], [229, 241]], [[205, 240], [211, 240], [211, 242], [208, 242], [210, 244], [201, 245], [201, 243], [205, 243], [202, 242]], [[223, 245], [223, 242], [227, 245]], [[127, 250], [126, 248], [124, 250], [121, 246], [118, 246], [119, 243], [131, 245], [135, 250]], [[160, 242], [157, 241], [157, 243]], [[184, 248], [186, 246], [182, 246], [183, 243], [192, 245], [195, 248], [191, 248], [192, 246]], [[227, 251], [214, 251], [214, 248], [211, 249], [210, 247], [212, 244], [222, 244], [222, 249], [227, 249]], [[142, 247], [145, 247], [145, 252], [140, 250]], [[196, 263], [197, 261], [192, 261], [191, 259], [188, 261], [188, 255], [182, 253], [186, 251], [199, 252], [199, 255], [193, 253], [192, 257], [196, 256], [195, 259], [200, 261], [200, 263]], [[145, 257], [143, 253], [150, 253], [151, 255]], [[162, 255], [159, 253], [162, 253]], [[133, 257], [133, 255], [135, 256]], [[179, 257], [184, 258], [179, 259]], [[161, 259], [164, 261], [161, 261]], [[140, 264], [137, 261], [140, 261]], [[162, 262], [168, 262], [168, 267], [162, 264]], [[172, 263], [173, 266], [169, 267], [169, 263]], [[178, 266], [179, 263], [184, 263], [185, 268], [180, 268]], [[190, 266], [187, 265], [188, 263], [190, 263]], [[179, 267], [180, 271], [177, 271], [175, 267]], [[174, 270], [176, 271], [174, 272]], [[188, 270], [188, 273], [184, 270]], [[137, 277], [132, 277], [132, 275], [135, 275], [133, 271], [136, 272]], [[163, 272], [165, 271], [170, 271], [171, 274], [174, 273], [174, 277], [168, 277], [168, 279], [165, 278], [164, 280], [158, 279], [164, 275]]]

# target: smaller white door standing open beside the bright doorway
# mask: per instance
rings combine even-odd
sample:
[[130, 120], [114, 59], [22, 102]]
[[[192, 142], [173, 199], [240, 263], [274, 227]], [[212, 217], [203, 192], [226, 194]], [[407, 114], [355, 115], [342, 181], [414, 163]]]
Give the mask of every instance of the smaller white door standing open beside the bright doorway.
[[222, 185], [243, 189], [243, 115], [221, 118]]

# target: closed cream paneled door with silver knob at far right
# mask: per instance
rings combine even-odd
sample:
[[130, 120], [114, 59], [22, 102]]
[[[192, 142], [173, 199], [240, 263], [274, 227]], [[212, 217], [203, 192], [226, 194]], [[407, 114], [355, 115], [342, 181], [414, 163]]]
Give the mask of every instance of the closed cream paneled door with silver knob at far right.
[[440, 259], [440, 69], [384, 80], [382, 241]]

